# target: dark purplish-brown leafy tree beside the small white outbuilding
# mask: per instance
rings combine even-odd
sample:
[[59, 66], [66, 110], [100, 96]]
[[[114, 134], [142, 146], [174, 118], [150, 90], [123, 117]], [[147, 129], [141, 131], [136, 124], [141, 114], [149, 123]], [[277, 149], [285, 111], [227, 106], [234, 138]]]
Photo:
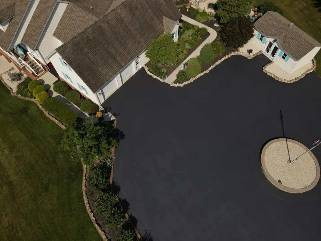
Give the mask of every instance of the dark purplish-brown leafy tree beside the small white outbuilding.
[[242, 47], [253, 36], [253, 22], [248, 16], [232, 18], [221, 28], [222, 41], [231, 48]]

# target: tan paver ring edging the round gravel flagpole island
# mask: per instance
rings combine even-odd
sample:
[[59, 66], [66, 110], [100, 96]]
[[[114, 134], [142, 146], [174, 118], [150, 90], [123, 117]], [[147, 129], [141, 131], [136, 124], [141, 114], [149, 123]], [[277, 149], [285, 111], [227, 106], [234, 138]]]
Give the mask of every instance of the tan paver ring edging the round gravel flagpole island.
[[312, 152], [309, 152], [309, 154], [312, 157], [312, 159], [314, 160], [314, 163], [315, 163], [316, 168], [317, 168], [317, 174], [316, 174], [316, 178], [314, 179], [313, 183], [311, 183], [310, 186], [305, 187], [305, 188], [300, 188], [300, 189], [289, 188], [289, 187], [283, 186], [282, 184], [280, 184], [277, 181], [275, 181], [274, 178], [269, 174], [269, 172], [268, 172], [268, 170], [267, 170], [267, 168], [265, 166], [265, 159], [264, 159], [265, 151], [273, 143], [279, 142], [279, 141], [289, 141], [289, 142], [292, 142], [292, 143], [295, 143], [295, 144], [299, 145], [300, 147], [302, 147], [306, 151], [308, 150], [308, 148], [306, 146], [304, 146], [303, 144], [301, 144], [300, 142], [298, 142], [296, 140], [289, 139], [289, 138], [277, 138], [277, 139], [274, 139], [274, 140], [268, 142], [264, 146], [264, 148], [262, 150], [262, 153], [261, 153], [261, 168], [262, 168], [262, 171], [263, 171], [265, 177], [267, 178], [267, 180], [270, 181], [270, 183], [272, 183], [274, 186], [276, 186], [277, 188], [281, 189], [284, 192], [302, 193], [302, 192], [310, 191], [312, 188], [314, 188], [317, 185], [317, 183], [318, 183], [318, 181], [320, 179], [320, 166], [319, 166], [319, 163], [317, 161], [317, 158], [313, 155]]

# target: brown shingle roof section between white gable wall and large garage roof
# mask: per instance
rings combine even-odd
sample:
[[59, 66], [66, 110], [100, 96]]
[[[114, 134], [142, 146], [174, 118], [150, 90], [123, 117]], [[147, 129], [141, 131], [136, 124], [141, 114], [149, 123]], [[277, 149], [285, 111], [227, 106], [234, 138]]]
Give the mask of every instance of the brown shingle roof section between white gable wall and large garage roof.
[[66, 43], [98, 20], [98, 17], [88, 13], [76, 4], [70, 3], [66, 7], [53, 36]]

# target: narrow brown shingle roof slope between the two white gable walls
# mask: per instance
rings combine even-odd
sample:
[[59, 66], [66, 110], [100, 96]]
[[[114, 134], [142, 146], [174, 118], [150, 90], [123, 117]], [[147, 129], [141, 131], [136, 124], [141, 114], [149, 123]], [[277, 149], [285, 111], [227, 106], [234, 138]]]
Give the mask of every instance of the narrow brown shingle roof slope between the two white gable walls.
[[55, 4], [56, 0], [39, 1], [21, 40], [30, 49], [36, 49], [40, 35], [46, 26]]

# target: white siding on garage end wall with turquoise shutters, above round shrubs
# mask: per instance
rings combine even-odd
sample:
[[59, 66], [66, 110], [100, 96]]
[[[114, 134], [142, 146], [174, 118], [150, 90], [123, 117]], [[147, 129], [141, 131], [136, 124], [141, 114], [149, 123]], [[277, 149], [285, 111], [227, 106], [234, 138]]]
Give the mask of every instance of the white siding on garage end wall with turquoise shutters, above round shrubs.
[[[82, 93], [84, 96], [87, 96], [89, 99], [91, 99], [92, 102], [96, 103], [96, 104], [100, 104], [96, 98], [96, 95], [91, 91], [91, 89], [85, 84], [85, 82], [82, 81], [82, 79], [76, 74], [76, 72], [74, 72], [73, 69], [69, 69], [68, 67], [64, 66], [61, 64], [59, 58], [61, 58], [61, 56], [58, 53], [53, 54], [50, 57], [50, 61], [52, 63], [52, 65], [55, 67], [58, 75], [65, 79], [63, 72], [70, 76], [71, 80], [73, 81], [73, 83], [71, 83], [69, 80], [65, 79], [65, 81], [69, 84], [72, 85], [77, 91], [79, 91], [80, 93]], [[88, 94], [86, 94], [86, 92], [84, 90], [79, 89], [79, 85], [82, 85], [84, 88], [86, 88]]]

